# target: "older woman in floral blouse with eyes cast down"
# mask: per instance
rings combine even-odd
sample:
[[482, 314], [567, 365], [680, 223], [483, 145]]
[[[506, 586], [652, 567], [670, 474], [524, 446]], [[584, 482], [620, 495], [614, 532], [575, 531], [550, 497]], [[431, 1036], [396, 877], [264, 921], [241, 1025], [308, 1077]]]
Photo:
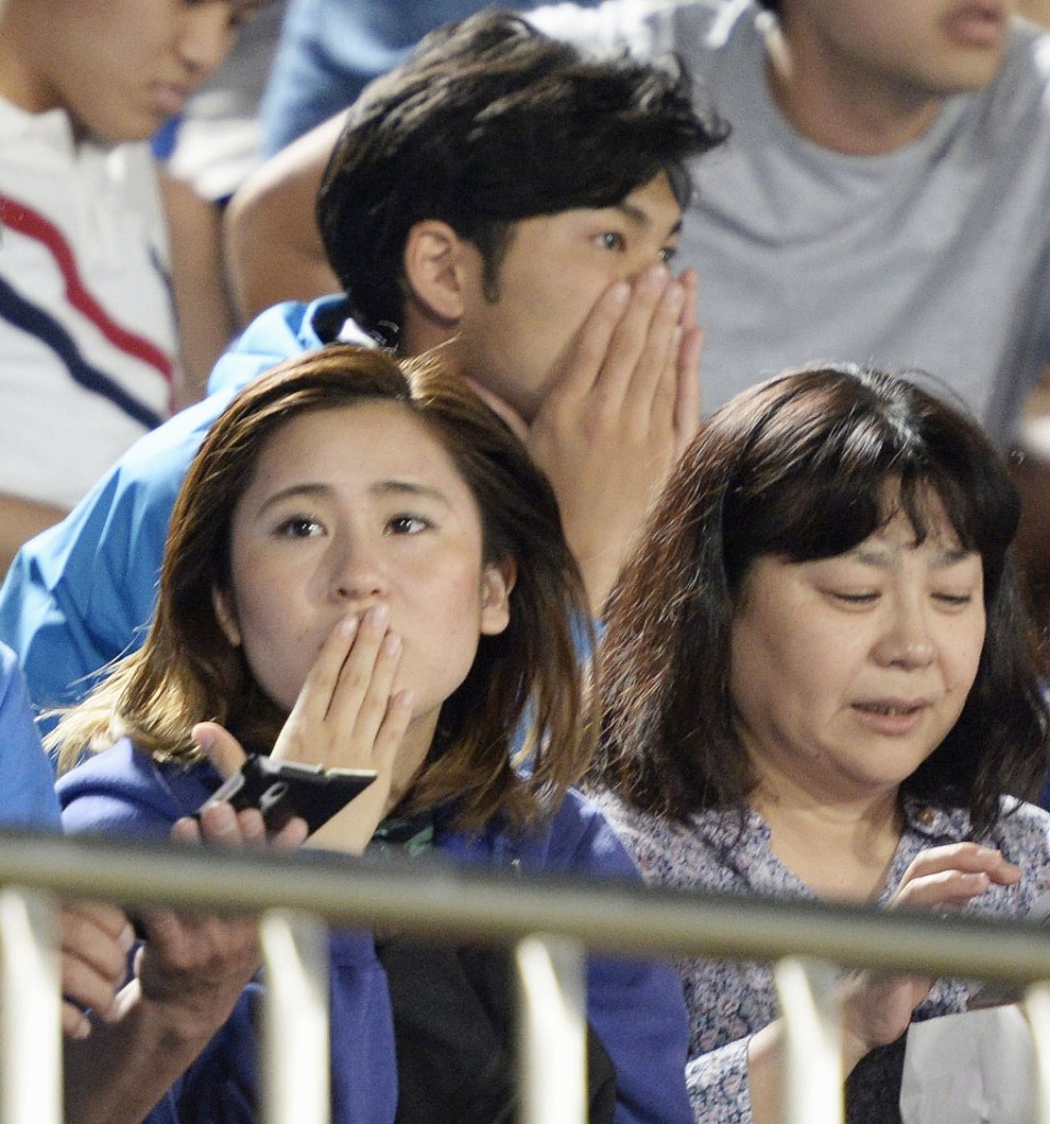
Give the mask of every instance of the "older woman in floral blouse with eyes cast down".
[[[775, 378], [693, 443], [602, 646], [600, 803], [652, 882], [1016, 916], [1050, 885], [1048, 713], [978, 426], [914, 381]], [[679, 964], [697, 1120], [769, 1121], [766, 966]], [[841, 984], [851, 1118], [894, 1118], [910, 1019], [961, 981]]]

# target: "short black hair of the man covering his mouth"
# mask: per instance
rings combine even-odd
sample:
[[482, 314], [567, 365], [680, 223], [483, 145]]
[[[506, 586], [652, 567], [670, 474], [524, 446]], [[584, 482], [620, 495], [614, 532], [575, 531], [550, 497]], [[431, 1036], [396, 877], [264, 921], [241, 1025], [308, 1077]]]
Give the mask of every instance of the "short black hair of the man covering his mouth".
[[660, 172], [685, 206], [686, 160], [725, 134], [683, 66], [592, 57], [487, 10], [430, 33], [365, 89], [326, 170], [318, 226], [355, 317], [392, 342], [414, 224], [440, 219], [477, 246], [491, 292], [513, 223], [614, 206]]

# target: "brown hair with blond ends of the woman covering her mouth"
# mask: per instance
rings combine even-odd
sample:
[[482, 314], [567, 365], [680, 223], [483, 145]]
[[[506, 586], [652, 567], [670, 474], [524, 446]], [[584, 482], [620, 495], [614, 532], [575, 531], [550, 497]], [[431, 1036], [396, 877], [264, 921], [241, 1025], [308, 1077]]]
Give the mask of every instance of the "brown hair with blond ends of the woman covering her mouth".
[[[482, 636], [463, 685], [446, 700], [413, 808], [453, 804], [476, 827], [497, 814], [524, 825], [578, 779], [593, 746], [586, 597], [546, 477], [521, 442], [457, 377], [432, 361], [332, 344], [249, 383], [217, 419], [179, 493], [157, 610], [143, 647], [118, 661], [65, 711], [49, 744], [61, 765], [85, 749], [130, 737], [154, 760], [201, 759], [190, 731], [210, 719], [246, 749], [268, 752], [286, 718], [227, 640], [213, 591], [230, 582], [230, 525], [258, 457], [292, 418], [366, 401], [394, 401], [451, 456], [477, 504], [484, 564], [512, 561], [510, 624]], [[588, 644], [586, 635], [583, 643]], [[527, 770], [513, 764], [515, 732], [538, 733]]]

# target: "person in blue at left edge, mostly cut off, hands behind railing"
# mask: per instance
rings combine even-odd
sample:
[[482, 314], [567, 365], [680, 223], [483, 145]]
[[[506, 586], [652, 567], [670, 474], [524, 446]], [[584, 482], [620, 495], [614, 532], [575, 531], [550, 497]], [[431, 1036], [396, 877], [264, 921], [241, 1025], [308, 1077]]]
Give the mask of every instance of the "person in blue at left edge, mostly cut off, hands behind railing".
[[[225, 816], [231, 816], [229, 809]], [[209, 812], [204, 830], [210, 836], [222, 823], [222, 812]], [[15, 653], [3, 644], [0, 827], [6, 833], [62, 830], [54, 773]], [[290, 835], [294, 842], [294, 832]], [[221, 1025], [220, 1016], [231, 1006], [223, 1006], [231, 985], [246, 964], [250, 973], [257, 955], [250, 922], [189, 918], [170, 910], [148, 910], [143, 918], [154, 940], [148, 953], [136, 958], [125, 986], [134, 944], [125, 913], [88, 899], [65, 900], [56, 910], [63, 1069], [69, 1078], [63, 1118], [69, 1124], [138, 1124]], [[225, 987], [202, 995], [194, 985], [216, 969]], [[21, 1031], [31, 1033], [33, 1027]]]

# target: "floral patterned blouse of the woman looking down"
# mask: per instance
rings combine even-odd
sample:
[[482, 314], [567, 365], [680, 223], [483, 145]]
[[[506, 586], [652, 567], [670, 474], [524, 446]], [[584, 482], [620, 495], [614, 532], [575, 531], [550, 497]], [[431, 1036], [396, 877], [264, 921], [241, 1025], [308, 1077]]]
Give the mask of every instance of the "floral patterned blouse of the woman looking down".
[[[704, 810], [685, 822], [627, 807], [610, 792], [592, 794], [638, 861], [648, 882], [779, 898], [816, 896], [769, 850], [769, 830], [755, 812]], [[885, 905], [915, 855], [968, 837], [965, 812], [921, 805], [906, 809], [906, 826], [879, 896]], [[993, 886], [966, 907], [970, 914], [1017, 917], [1050, 887], [1050, 814], [1016, 800], [981, 840], [1017, 863], [1019, 885]], [[686, 1084], [697, 1124], [750, 1124], [748, 1039], [778, 1015], [773, 972], [765, 963], [682, 960], [677, 963], [690, 1013]], [[914, 1018], [965, 1010], [977, 985], [938, 980]], [[873, 1051], [847, 1086], [847, 1116], [858, 1124], [900, 1121], [897, 1100], [903, 1039]]]

